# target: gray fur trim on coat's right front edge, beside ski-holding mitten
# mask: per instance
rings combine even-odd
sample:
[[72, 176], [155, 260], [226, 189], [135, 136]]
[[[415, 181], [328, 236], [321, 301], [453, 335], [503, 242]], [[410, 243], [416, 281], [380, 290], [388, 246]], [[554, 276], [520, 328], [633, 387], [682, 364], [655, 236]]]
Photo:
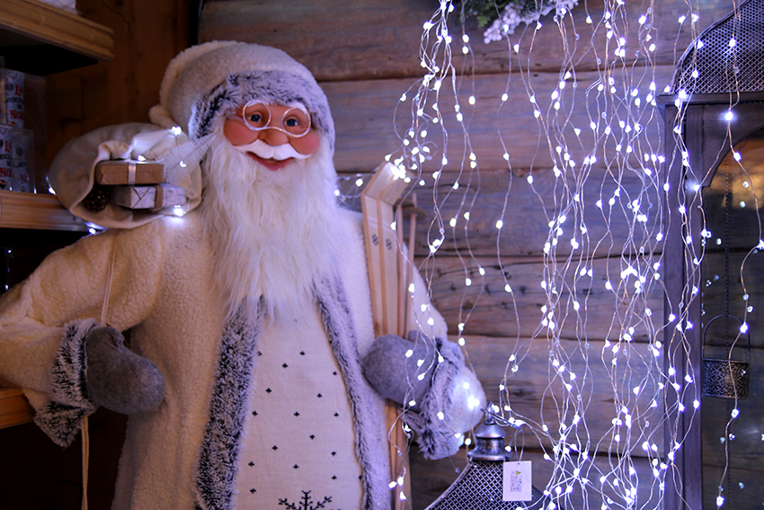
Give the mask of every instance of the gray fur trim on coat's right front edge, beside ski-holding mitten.
[[340, 278], [335, 275], [316, 283], [315, 299], [334, 357], [340, 365], [355, 416], [353, 427], [356, 452], [363, 470], [364, 497], [361, 508], [388, 510], [391, 499], [387, 488], [390, 466], [384, 438], [378, 434], [380, 425], [385, 423], [385, 416], [374, 405], [377, 397], [363, 377], [351, 309]]

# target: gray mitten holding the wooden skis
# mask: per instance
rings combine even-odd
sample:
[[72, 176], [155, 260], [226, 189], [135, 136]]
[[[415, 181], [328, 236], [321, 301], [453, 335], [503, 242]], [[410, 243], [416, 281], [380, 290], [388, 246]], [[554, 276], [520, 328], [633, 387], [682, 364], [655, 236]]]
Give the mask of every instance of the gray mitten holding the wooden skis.
[[401, 406], [413, 400], [410, 408], [419, 411], [437, 364], [435, 341], [411, 331], [408, 340], [397, 335], [375, 340], [363, 360], [363, 374], [383, 397]]

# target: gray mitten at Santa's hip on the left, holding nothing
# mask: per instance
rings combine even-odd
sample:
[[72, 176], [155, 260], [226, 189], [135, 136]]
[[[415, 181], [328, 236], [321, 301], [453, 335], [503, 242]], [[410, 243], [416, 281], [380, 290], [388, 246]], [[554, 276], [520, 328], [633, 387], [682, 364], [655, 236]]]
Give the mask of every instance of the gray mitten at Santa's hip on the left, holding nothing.
[[87, 391], [98, 406], [124, 415], [154, 411], [164, 398], [164, 377], [153, 362], [125, 347], [113, 327], [85, 337]]

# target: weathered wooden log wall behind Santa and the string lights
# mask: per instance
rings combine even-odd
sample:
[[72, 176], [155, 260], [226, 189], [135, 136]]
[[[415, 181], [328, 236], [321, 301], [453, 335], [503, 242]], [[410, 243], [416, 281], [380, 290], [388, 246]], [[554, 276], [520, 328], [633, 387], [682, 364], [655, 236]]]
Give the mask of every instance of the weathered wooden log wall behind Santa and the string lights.
[[[633, 66], [632, 76], [640, 76], [640, 70], [648, 76], [645, 84], [654, 80], [659, 93], [671, 81], [675, 62], [688, 45], [693, 35], [689, 25], [680, 25], [678, 18], [687, 13], [687, 3], [682, 0], [662, 0], [653, 5], [650, 18], [653, 28], [653, 42], [657, 49], [652, 54], [640, 53], [635, 45], [638, 31], [643, 30], [636, 22], [640, 13], [649, 7], [649, 2], [627, 2], [624, 9], [629, 20], [624, 26], [629, 40], [627, 45], [629, 65]], [[256, 2], [247, 0], [215, 0], [204, 5], [200, 19], [200, 41], [244, 40], [284, 49], [294, 58], [304, 63], [324, 87], [333, 111], [337, 130], [335, 166], [341, 174], [343, 192], [352, 194], [359, 177], [373, 171], [386, 154], [401, 147], [401, 137], [411, 125], [411, 103], [401, 103], [401, 95], [413, 95], [416, 87], [410, 89], [423, 72], [419, 60], [422, 23], [431, 18], [438, 7], [434, 0], [360, 0], [345, 3], [333, 0], [293, 0], [289, 3]], [[711, 22], [728, 13], [732, 4], [724, 0], [693, 4], [700, 16], [702, 30]], [[559, 182], [551, 172], [552, 158], [546, 146], [544, 135], [538, 130], [538, 122], [533, 116], [529, 103], [530, 93], [537, 93], [539, 110], [547, 112], [549, 95], [560, 79], [560, 69], [565, 63], [574, 63], [577, 90], [568, 96], [570, 103], [563, 110], [570, 112], [571, 128], [563, 130], [565, 136], [572, 137], [572, 127], [586, 127], [591, 118], [586, 108], [573, 105], [590, 103], [596, 106], [602, 100], [594, 94], [586, 94], [590, 85], [599, 79], [598, 58], [605, 48], [605, 31], [597, 31], [592, 38], [592, 25], [587, 24], [591, 16], [595, 24], [603, 19], [604, 4], [582, 2], [573, 9], [564, 21], [564, 37], [569, 53], [562, 51], [561, 31], [557, 30], [551, 16], [542, 19], [546, 25], [542, 30], [518, 34], [511, 42], [484, 44], [482, 32], [475, 22], [467, 21], [464, 32], [470, 37], [473, 53], [464, 58], [459, 44], [455, 44], [455, 67], [463, 69], [458, 78], [458, 101], [469, 130], [468, 148], [456, 121], [449, 121], [449, 145], [444, 151], [440, 143], [442, 132], [431, 133], [434, 158], [446, 156], [449, 164], [440, 175], [438, 186], [433, 185], [430, 175], [422, 175], [422, 186], [414, 185], [417, 200], [425, 210], [430, 211], [426, 220], [417, 224], [415, 255], [422, 263], [430, 252], [433, 239], [441, 236], [440, 226], [444, 226], [443, 242], [434, 262], [422, 266], [422, 273], [431, 279], [432, 300], [449, 322], [451, 336], [459, 335], [458, 324], [466, 323], [463, 335], [466, 340], [466, 354], [476, 374], [483, 382], [489, 398], [500, 399], [499, 385], [507, 383], [511, 407], [525, 416], [533, 416], [554, 427], [564, 412], [555, 407], [555, 389], [550, 387], [547, 370], [550, 347], [542, 335], [533, 340], [541, 320], [541, 308], [546, 303], [546, 291], [539, 282], [545, 271], [543, 248], [547, 240], [548, 221], [554, 212], [554, 198], [559, 197]], [[621, 14], [619, 14], [621, 15]], [[458, 16], [454, 15], [452, 21]], [[455, 39], [462, 33], [457, 22], [450, 26]], [[519, 51], [510, 60], [508, 49], [519, 45]], [[532, 50], [531, 50], [532, 46]], [[530, 57], [529, 57], [530, 55]], [[649, 64], [649, 66], [648, 66]], [[653, 67], [654, 66], [654, 67]], [[654, 69], [654, 73], [653, 73]], [[525, 80], [520, 76], [525, 73]], [[618, 73], [613, 70], [614, 76]], [[653, 74], [651, 74], [653, 73]], [[616, 76], [622, 79], [625, 76]], [[529, 86], [532, 87], [529, 88]], [[502, 102], [502, 94], [508, 100]], [[441, 112], [453, 112], [454, 98], [441, 94], [438, 99]], [[467, 102], [467, 97], [475, 96], [475, 106]], [[546, 99], [545, 99], [546, 98]], [[567, 110], [566, 110], [567, 109]], [[595, 110], [596, 111], [596, 110]], [[653, 115], [656, 113], [653, 112]], [[648, 147], [641, 152], [660, 153], [662, 121], [659, 118], [643, 118], [640, 122], [650, 125]], [[591, 131], [582, 130], [583, 147], [591, 145]], [[539, 138], [541, 137], [541, 138]], [[587, 137], [590, 137], [587, 139]], [[617, 141], [600, 140], [600, 154], [614, 150]], [[510, 156], [510, 165], [502, 157]], [[479, 174], [470, 172], [462, 162], [473, 151], [477, 156]], [[609, 198], [617, 185], [627, 193], [637, 193], [644, 189], [644, 183], [634, 175], [620, 175], [617, 169], [609, 168], [600, 157], [600, 164], [592, 166], [590, 179], [584, 186], [589, 201]], [[531, 186], [526, 177], [534, 177]], [[454, 184], [460, 190], [454, 192]], [[358, 192], [355, 192], [357, 195]], [[657, 206], [661, 197], [643, 197], [651, 206]], [[433, 214], [440, 210], [441, 219]], [[469, 211], [469, 221], [463, 215]], [[502, 214], [503, 211], [503, 214]], [[458, 219], [456, 228], [449, 228], [449, 220]], [[497, 230], [497, 219], [503, 220], [503, 228]], [[440, 221], [440, 222], [439, 222]], [[625, 214], [614, 214], [603, 218], [600, 210], [588, 207], [584, 221], [590, 229], [590, 244], [582, 246], [584, 259], [592, 260], [594, 276], [587, 285], [579, 281], [569, 291], [586, 302], [585, 337], [582, 342], [582, 323], [571, 316], [563, 325], [562, 343], [564, 352], [575, 353], [572, 366], [581, 373], [587, 372], [591, 384], [586, 398], [589, 399], [587, 424], [591, 427], [587, 434], [591, 438], [602, 438], [612, 434], [613, 392], [618, 381], [608, 381], [603, 348], [617, 335], [618, 315], [626, 310], [619, 309], [619, 303], [612, 292], [605, 291], [604, 282], [609, 274], [620, 272], [623, 262], [635, 255], [629, 253], [626, 238], [633, 225]], [[654, 236], [659, 218], [651, 217], [644, 228], [644, 236]], [[639, 236], [637, 232], [637, 236]], [[595, 242], [599, 241], [599, 242]], [[625, 247], [626, 246], [626, 247]], [[660, 249], [660, 247], [658, 248]], [[557, 246], [557, 264], [574, 261], [575, 254]], [[573, 258], [572, 258], [573, 257]], [[482, 269], [482, 273], [481, 273]], [[466, 288], [466, 278], [472, 286]], [[505, 285], [511, 285], [512, 293], [507, 293]], [[560, 298], [564, 302], [564, 298]], [[662, 292], [656, 289], [645, 296], [643, 307], [653, 309], [656, 317], [661, 316]], [[614, 319], [615, 317], [615, 319]], [[615, 320], [615, 322], [614, 322]], [[637, 328], [636, 343], [642, 343], [645, 356], [649, 336], [655, 331]], [[580, 345], [585, 347], [577, 348]], [[518, 347], [520, 346], [520, 347]], [[507, 355], [520, 348], [524, 353], [522, 370], [507, 380]], [[640, 347], [637, 346], [637, 350]], [[641, 354], [640, 354], [641, 355]], [[588, 361], [587, 361], [588, 360]], [[633, 380], [645, 377], [648, 386], [658, 381], [650, 378], [654, 365], [643, 365], [644, 373], [632, 373]], [[623, 384], [624, 380], [620, 381]], [[650, 394], [646, 388], [644, 394]], [[546, 398], [545, 398], [546, 396]], [[543, 405], [542, 405], [543, 402]], [[642, 402], [639, 406], [649, 403]], [[570, 419], [570, 416], [568, 416]], [[651, 439], [662, 444], [660, 429], [655, 429]], [[534, 461], [534, 477], [543, 486], [552, 472], [551, 462], [542, 459], [541, 448], [550, 444], [545, 438], [525, 437], [523, 459]], [[613, 467], [608, 461], [608, 446], [592, 446], [591, 453], [604, 452], [605, 459], [601, 472], [607, 474]], [[639, 452], [632, 452], [634, 467], [640, 480], [653, 479], [649, 461], [640, 458]], [[458, 475], [458, 470], [466, 463], [463, 454], [437, 463], [423, 461], [413, 454], [414, 508], [427, 506], [435, 497], [448, 488]], [[600, 462], [599, 460], [597, 462]], [[597, 464], [599, 466], [599, 464]], [[594, 474], [591, 474], [594, 478]], [[597, 475], [599, 479], [599, 474]], [[655, 488], [647, 483], [640, 484], [640, 504], [655, 497]], [[574, 507], [600, 506], [601, 499], [592, 499], [577, 491], [572, 501]]]

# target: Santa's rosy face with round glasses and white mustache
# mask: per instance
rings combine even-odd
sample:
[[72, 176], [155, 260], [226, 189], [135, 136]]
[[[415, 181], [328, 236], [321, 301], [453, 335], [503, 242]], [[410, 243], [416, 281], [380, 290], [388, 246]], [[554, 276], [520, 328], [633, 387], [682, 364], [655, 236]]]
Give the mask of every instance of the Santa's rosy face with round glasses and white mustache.
[[302, 105], [246, 103], [223, 123], [223, 134], [237, 150], [275, 172], [318, 150], [318, 133]]

